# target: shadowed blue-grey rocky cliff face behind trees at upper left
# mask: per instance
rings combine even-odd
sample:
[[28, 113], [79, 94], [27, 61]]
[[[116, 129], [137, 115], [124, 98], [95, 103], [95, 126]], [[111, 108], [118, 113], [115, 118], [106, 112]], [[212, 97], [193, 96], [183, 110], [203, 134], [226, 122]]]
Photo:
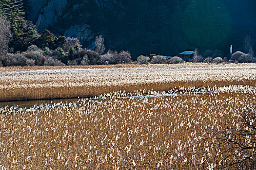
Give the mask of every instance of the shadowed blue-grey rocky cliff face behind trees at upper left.
[[87, 46], [92, 44], [98, 22], [104, 18], [102, 9], [120, 5], [112, 0], [28, 0], [28, 4], [31, 7], [28, 19], [39, 32], [50, 29], [57, 35], [77, 37]]

